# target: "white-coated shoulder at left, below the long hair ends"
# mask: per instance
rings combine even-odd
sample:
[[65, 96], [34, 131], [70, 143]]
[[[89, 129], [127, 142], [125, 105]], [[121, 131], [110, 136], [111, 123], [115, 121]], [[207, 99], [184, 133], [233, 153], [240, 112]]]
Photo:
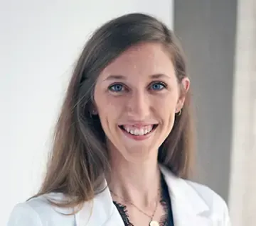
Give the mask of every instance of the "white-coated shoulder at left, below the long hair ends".
[[48, 199], [63, 200], [61, 193], [50, 193], [32, 198], [24, 203], [18, 203], [11, 212], [7, 226], [41, 226], [41, 225], [73, 225], [74, 215], [70, 210], [55, 208]]

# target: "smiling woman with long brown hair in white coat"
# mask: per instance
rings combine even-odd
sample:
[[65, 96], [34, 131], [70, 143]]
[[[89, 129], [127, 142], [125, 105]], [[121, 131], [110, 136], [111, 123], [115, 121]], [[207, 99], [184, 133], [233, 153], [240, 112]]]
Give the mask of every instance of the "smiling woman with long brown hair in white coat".
[[220, 196], [188, 181], [190, 80], [174, 34], [133, 13], [87, 42], [41, 191], [9, 226], [230, 225]]

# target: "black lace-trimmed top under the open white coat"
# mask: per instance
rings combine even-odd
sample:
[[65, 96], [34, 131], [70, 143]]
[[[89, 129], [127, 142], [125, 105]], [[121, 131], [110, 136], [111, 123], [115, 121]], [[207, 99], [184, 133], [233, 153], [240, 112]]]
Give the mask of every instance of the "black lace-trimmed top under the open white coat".
[[[164, 207], [165, 215], [161, 217], [161, 220], [159, 222], [160, 226], [174, 226], [174, 219], [173, 214], [171, 210], [171, 198], [169, 196], [168, 187], [166, 185], [166, 182], [164, 181], [164, 177], [161, 176], [161, 200], [160, 203]], [[122, 205], [121, 203], [117, 203], [114, 201], [114, 205], [117, 207], [117, 210], [119, 211], [122, 220], [124, 221], [125, 226], [134, 226], [132, 222], [129, 221], [129, 214], [127, 213], [127, 207], [126, 205]]]

